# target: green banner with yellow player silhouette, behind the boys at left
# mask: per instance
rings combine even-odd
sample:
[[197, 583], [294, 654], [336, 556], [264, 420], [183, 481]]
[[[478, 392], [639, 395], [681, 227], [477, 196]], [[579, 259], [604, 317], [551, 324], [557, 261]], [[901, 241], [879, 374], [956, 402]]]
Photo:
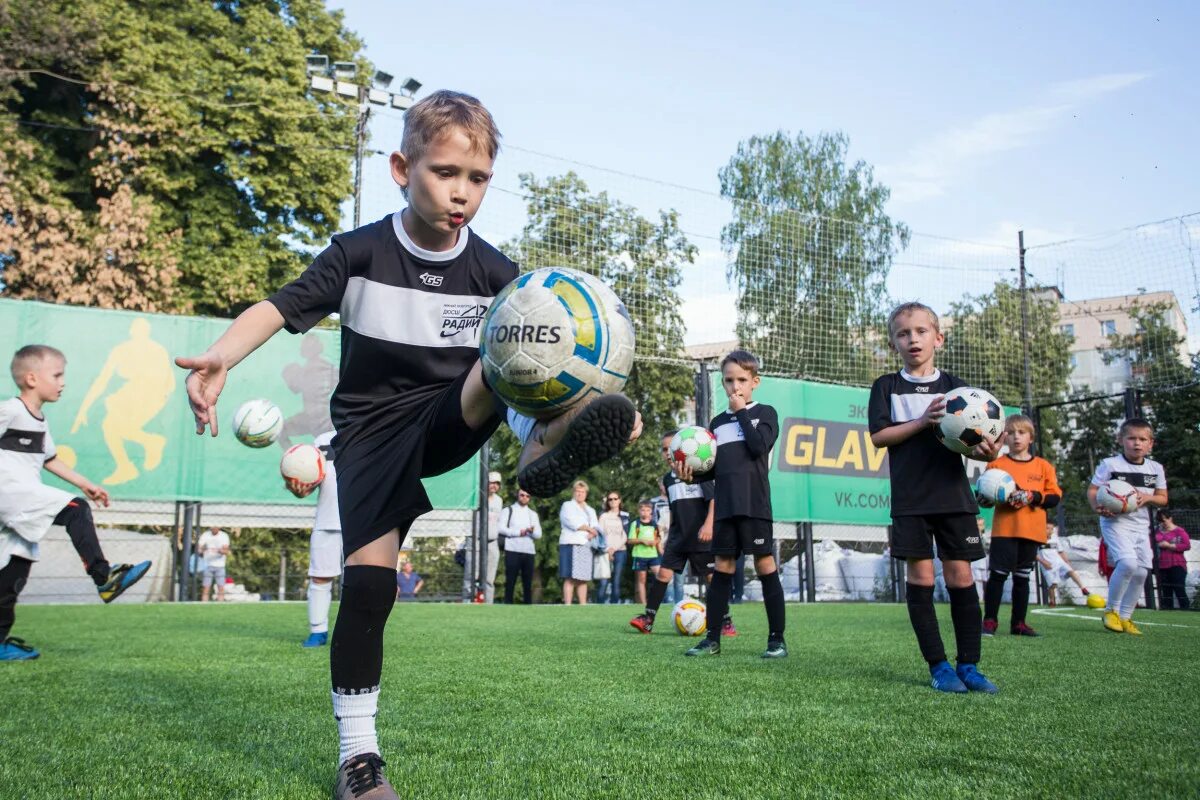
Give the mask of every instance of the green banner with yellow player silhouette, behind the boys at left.
[[[203, 353], [229, 320], [0, 300], [4, 357], [49, 344], [67, 357], [66, 391], [46, 405], [60, 458], [122, 500], [314, 503], [283, 488], [280, 457], [292, 444], [330, 429], [340, 332], [278, 333], [229, 373], [217, 405], [220, 435], [196, 435], [174, 356]], [[16, 386], [0, 391], [11, 397]], [[283, 434], [254, 450], [233, 437], [248, 399], [280, 407]], [[43, 479], [61, 485], [49, 473]], [[65, 488], [70, 488], [66, 487]], [[425, 481], [436, 509], [478, 505], [479, 457]]]

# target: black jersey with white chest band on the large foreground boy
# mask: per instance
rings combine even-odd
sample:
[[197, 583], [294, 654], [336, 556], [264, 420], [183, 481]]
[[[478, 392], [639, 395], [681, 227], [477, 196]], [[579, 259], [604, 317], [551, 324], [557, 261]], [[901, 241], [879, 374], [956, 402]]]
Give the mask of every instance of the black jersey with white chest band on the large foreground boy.
[[516, 264], [467, 228], [454, 249], [418, 247], [397, 212], [334, 236], [269, 300], [293, 333], [341, 314], [341, 374], [330, 401], [341, 433], [403, 416], [470, 368], [484, 314], [516, 277]]

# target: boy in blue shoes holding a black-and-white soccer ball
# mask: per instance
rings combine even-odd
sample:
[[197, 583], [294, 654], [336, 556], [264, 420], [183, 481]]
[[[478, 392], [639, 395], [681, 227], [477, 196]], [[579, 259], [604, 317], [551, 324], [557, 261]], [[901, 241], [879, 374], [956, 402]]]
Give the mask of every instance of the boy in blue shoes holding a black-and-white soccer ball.
[[[944, 338], [937, 314], [924, 303], [906, 302], [888, 315], [888, 344], [904, 368], [881, 375], [871, 386], [868, 420], [871, 443], [887, 447], [892, 474], [892, 557], [907, 563], [908, 619], [931, 685], [940, 692], [989, 692], [996, 685], [979, 672], [982, 614], [971, 561], [983, 558], [976, 527], [979, 511], [962, 469], [962, 458], [942, 446], [934, 428], [946, 416], [946, 392], [964, 386], [937, 369], [934, 356]], [[971, 458], [992, 461], [1000, 443], [984, 437]], [[934, 542], [950, 596], [958, 644], [958, 668], [946, 660], [934, 610]]]

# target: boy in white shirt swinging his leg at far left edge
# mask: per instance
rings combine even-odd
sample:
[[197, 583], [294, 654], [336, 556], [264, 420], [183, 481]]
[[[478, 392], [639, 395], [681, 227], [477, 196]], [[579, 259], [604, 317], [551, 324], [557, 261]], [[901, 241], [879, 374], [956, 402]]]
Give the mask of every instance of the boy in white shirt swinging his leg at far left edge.
[[[19, 393], [0, 403], [0, 661], [29, 661], [37, 650], [8, 632], [17, 596], [50, 525], [66, 525], [106, 603], [140, 581], [150, 561], [110, 565], [104, 559], [88, 500], [107, 506], [108, 492], [54, 457], [42, 407], [58, 402], [66, 389], [66, 357], [46, 344], [28, 344], [17, 350], [11, 368]], [[86, 499], [42, 483], [43, 469], [77, 486]]]

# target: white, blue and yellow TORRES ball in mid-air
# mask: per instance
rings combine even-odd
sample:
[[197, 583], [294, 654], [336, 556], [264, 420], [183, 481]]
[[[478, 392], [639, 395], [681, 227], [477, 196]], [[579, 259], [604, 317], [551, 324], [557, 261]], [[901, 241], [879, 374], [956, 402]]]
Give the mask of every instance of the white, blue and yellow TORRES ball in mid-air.
[[634, 366], [634, 323], [598, 278], [547, 266], [496, 296], [479, 356], [488, 385], [509, 408], [545, 419], [624, 387]]

